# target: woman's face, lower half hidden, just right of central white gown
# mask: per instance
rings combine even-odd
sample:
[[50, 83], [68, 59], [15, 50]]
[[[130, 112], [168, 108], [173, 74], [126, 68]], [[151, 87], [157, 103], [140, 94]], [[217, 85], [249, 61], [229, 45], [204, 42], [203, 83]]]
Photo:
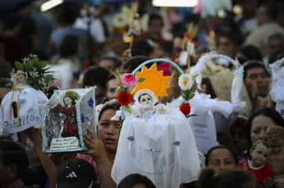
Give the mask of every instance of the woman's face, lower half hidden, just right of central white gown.
[[227, 149], [214, 149], [208, 157], [207, 167], [214, 169], [217, 173], [236, 168], [234, 157]]

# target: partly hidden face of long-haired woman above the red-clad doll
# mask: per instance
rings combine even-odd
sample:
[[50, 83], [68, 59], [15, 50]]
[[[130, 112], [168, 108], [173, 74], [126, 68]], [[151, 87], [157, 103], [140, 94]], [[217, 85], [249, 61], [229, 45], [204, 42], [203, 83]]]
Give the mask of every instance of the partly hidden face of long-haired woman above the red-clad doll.
[[256, 116], [252, 121], [252, 127], [250, 128], [250, 141], [254, 143], [256, 140], [263, 139], [267, 130], [267, 127], [276, 125], [272, 118], [267, 116]]

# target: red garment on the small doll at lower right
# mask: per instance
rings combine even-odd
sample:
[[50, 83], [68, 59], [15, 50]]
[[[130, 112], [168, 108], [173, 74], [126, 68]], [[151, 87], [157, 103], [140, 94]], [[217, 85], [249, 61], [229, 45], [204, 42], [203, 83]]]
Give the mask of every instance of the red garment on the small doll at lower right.
[[263, 182], [267, 178], [272, 178], [272, 170], [267, 165], [263, 165], [261, 167], [252, 167], [252, 162], [250, 160], [245, 160], [239, 164], [239, 167], [243, 170], [250, 171], [254, 174], [256, 178], [256, 182], [260, 185], [263, 185]]

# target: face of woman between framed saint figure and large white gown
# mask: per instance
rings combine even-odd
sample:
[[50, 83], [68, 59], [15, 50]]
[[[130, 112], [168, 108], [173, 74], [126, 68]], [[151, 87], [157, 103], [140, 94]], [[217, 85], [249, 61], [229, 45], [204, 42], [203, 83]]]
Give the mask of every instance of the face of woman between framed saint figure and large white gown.
[[119, 143], [119, 134], [121, 132], [121, 123], [111, 120], [115, 112], [114, 109], [105, 110], [99, 120], [99, 138], [103, 141], [105, 150], [108, 152], [116, 152], [117, 144]]

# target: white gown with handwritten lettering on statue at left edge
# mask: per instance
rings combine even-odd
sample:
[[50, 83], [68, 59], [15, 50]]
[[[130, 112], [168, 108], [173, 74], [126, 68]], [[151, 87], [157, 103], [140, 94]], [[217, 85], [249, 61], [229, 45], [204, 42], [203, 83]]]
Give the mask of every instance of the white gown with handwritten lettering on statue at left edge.
[[[19, 119], [14, 118], [12, 102], [19, 103]], [[17, 85], [4, 96], [0, 107], [0, 136], [21, 132], [29, 127], [39, 126], [39, 104], [48, 98], [40, 90], [29, 85]], [[20, 123], [17, 123], [20, 121]]]

